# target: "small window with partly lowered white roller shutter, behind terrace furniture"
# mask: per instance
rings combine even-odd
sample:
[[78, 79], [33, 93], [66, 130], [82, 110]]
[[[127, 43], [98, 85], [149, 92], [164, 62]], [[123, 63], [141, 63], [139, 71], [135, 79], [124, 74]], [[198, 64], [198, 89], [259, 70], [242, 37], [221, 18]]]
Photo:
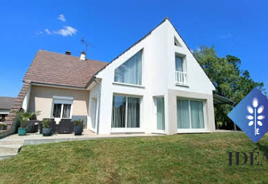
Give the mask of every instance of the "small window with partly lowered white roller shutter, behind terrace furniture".
[[[66, 100], [68, 99], [68, 100]], [[69, 100], [73, 98], [67, 97], [53, 97], [53, 107], [52, 107], [52, 118], [71, 118], [71, 109], [73, 100]]]

